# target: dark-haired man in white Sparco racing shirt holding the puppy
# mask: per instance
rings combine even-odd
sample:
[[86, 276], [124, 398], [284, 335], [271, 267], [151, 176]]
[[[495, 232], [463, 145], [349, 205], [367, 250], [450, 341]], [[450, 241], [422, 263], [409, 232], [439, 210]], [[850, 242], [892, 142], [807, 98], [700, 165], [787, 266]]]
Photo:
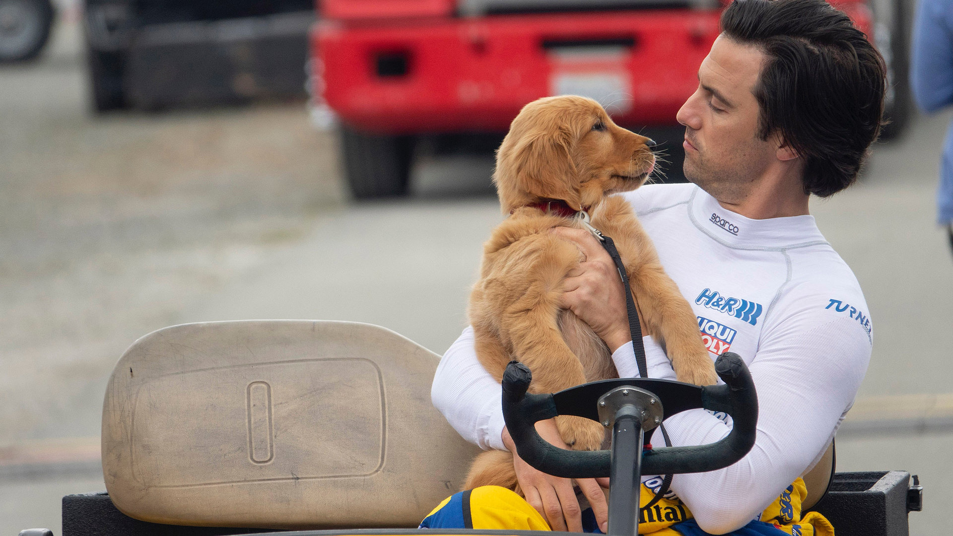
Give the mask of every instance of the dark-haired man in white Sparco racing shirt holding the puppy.
[[[716, 534], [759, 518], [817, 463], [866, 371], [872, 328], [860, 285], [818, 231], [808, 198], [856, 180], [880, 130], [885, 88], [880, 54], [822, 0], [736, 0], [721, 27], [699, 88], [678, 113], [694, 184], [624, 195], [694, 308], [712, 358], [729, 348], [740, 354], [758, 389], [751, 452], [671, 484], [697, 526]], [[638, 376], [611, 260], [585, 232], [558, 232], [586, 256], [565, 282], [564, 305], [608, 344], [621, 377]], [[674, 379], [659, 345], [645, 338], [645, 346], [649, 376]], [[469, 328], [440, 362], [432, 395], [464, 438], [515, 451], [499, 385], [476, 360]], [[723, 415], [701, 410], [665, 425], [675, 445], [713, 443], [730, 430]], [[554, 423], [537, 429], [561, 444]], [[516, 455], [514, 464], [526, 501], [549, 526], [580, 530], [573, 483]], [[601, 488], [577, 484], [604, 532]]]

